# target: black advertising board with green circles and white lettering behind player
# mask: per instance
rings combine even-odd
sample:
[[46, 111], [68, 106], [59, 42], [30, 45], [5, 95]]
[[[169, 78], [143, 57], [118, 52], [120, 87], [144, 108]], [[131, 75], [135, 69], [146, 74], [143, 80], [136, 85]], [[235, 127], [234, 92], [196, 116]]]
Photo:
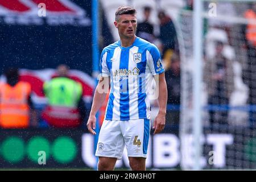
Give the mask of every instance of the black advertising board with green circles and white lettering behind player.
[[[204, 168], [256, 168], [255, 130], [247, 127], [205, 128]], [[0, 168], [93, 169], [96, 165], [93, 135], [81, 129], [0, 130]], [[148, 146], [147, 169], [179, 169], [180, 139], [177, 127], [166, 127], [152, 135]], [[191, 137], [191, 136], [186, 136]], [[188, 140], [189, 141], [189, 140]], [[185, 146], [186, 162], [193, 162], [192, 143]], [[129, 168], [126, 152], [116, 168]], [[213, 155], [217, 160], [212, 160]]]

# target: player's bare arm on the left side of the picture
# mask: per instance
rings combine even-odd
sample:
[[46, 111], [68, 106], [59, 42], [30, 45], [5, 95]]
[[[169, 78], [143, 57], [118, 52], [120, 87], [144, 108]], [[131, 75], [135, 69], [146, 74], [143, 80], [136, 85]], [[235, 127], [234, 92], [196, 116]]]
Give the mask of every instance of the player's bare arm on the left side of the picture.
[[93, 135], [96, 135], [96, 132], [94, 131], [96, 128], [96, 113], [106, 99], [106, 94], [109, 92], [109, 86], [110, 77], [101, 76], [94, 93], [92, 109], [90, 110], [89, 119], [86, 125], [89, 132]]

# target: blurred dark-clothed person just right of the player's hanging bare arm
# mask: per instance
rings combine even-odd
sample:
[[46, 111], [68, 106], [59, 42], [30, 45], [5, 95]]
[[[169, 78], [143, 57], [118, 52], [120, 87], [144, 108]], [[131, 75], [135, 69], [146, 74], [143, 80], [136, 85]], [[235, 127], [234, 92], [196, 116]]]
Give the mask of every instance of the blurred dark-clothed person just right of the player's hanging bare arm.
[[166, 84], [168, 90], [167, 104], [172, 105], [172, 110], [167, 110], [166, 118], [168, 124], [179, 124], [180, 120], [180, 59], [175, 52], [170, 60], [163, 60]]

